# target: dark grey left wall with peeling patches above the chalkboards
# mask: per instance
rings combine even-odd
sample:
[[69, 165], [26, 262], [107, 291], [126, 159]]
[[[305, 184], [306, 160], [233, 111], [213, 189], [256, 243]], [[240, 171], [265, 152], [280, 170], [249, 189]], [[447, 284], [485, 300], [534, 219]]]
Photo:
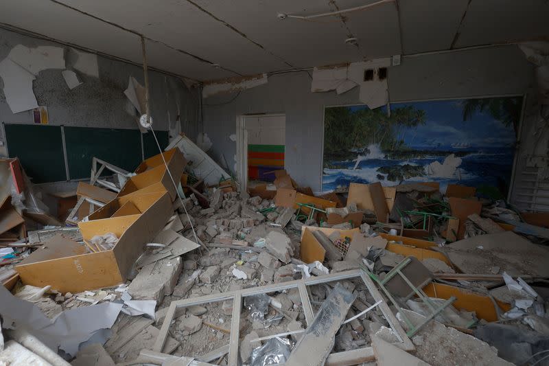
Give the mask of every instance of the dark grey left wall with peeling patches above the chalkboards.
[[[16, 45], [37, 47], [51, 45], [65, 48], [67, 69], [75, 62], [70, 47], [0, 29], [0, 60]], [[141, 52], [141, 51], [140, 51]], [[137, 128], [135, 108], [124, 90], [133, 76], [141, 84], [143, 69], [126, 62], [97, 56], [99, 78], [78, 73], [84, 84], [71, 90], [61, 75], [62, 70], [40, 71], [33, 83], [38, 105], [48, 107], [49, 124], [102, 128]], [[195, 138], [199, 130], [199, 99], [197, 89], [189, 91], [183, 81], [174, 76], [150, 71], [150, 105], [155, 130], [168, 130], [180, 123], [183, 132]], [[32, 124], [32, 111], [13, 114], [5, 101], [0, 78], [0, 122]], [[178, 115], [180, 122], [177, 121]], [[0, 136], [3, 140], [4, 137]]]

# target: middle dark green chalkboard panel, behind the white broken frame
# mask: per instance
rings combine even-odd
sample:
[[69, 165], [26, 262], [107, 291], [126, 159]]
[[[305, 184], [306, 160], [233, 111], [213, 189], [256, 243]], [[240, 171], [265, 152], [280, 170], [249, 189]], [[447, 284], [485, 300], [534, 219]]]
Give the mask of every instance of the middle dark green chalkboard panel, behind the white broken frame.
[[65, 127], [71, 179], [88, 178], [93, 157], [133, 172], [141, 162], [139, 130]]

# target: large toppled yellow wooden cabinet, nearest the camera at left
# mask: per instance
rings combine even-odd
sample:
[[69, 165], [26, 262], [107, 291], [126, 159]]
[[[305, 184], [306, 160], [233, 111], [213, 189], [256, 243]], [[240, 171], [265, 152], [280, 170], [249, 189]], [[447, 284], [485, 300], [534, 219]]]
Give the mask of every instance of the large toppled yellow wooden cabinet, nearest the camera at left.
[[[112, 217], [129, 201], [143, 213]], [[115, 286], [126, 280], [144, 244], [156, 236], [170, 214], [172, 202], [167, 192], [116, 198], [91, 214], [89, 221], [78, 223], [87, 241], [95, 235], [115, 233], [119, 240], [113, 249], [86, 253], [82, 244], [58, 238], [34, 251], [15, 269], [23, 284], [51, 285], [62, 293]]]

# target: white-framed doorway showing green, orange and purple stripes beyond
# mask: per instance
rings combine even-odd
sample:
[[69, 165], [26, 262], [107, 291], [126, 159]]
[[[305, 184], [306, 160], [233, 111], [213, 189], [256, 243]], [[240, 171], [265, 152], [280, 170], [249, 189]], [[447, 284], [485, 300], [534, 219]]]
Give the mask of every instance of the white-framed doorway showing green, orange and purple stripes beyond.
[[240, 115], [236, 123], [237, 177], [245, 192], [249, 181], [273, 181], [271, 172], [284, 168], [286, 116]]

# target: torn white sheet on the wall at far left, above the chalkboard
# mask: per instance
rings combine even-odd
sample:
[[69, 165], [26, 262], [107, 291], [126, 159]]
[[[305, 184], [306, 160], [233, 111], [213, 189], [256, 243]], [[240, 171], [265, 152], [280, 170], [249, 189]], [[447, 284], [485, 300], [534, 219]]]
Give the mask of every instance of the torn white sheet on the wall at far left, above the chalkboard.
[[5, 100], [12, 113], [28, 111], [38, 107], [32, 91], [34, 75], [17, 65], [10, 58], [0, 62], [0, 78], [4, 83]]

